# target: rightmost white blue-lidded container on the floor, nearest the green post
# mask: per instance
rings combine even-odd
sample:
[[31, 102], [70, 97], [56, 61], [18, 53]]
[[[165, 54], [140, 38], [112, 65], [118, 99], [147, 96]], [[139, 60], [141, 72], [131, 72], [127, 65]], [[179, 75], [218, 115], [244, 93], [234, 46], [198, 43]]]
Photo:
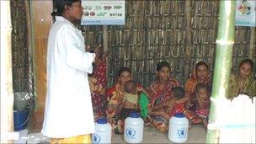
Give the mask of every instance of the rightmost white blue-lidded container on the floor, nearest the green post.
[[189, 120], [182, 113], [175, 114], [169, 120], [168, 139], [175, 143], [183, 143], [188, 139]]

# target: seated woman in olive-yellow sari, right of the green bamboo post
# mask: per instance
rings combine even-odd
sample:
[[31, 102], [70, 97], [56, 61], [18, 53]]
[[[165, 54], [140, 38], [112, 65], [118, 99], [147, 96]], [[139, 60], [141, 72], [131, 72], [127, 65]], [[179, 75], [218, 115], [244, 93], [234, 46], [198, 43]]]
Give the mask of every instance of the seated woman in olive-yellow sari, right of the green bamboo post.
[[234, 99], [239, 94], [250, 98], [256, 95], [256, 81], [253, 78], [253, 61], [245, 59], [240, 62], [237, 74], [232, 74], [228, 85], [227, 99]]

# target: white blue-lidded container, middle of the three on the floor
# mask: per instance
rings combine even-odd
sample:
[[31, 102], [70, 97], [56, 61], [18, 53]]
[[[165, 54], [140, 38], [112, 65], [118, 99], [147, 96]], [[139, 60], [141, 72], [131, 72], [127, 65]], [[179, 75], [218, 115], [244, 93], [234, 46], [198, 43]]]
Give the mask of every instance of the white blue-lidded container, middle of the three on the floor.
[[125, 119], [124, 139], [127, 143], [141, 143], [143, 141], [144, 121], [136, 112], [130, 113]]

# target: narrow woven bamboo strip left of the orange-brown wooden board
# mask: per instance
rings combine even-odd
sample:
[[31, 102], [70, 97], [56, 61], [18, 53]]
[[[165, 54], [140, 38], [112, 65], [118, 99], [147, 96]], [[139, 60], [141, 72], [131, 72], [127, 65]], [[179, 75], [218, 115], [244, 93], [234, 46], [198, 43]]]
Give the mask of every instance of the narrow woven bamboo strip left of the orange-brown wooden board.
[[29, 54], [24, 1], [11, 1], [13, 92], [29, 91]]

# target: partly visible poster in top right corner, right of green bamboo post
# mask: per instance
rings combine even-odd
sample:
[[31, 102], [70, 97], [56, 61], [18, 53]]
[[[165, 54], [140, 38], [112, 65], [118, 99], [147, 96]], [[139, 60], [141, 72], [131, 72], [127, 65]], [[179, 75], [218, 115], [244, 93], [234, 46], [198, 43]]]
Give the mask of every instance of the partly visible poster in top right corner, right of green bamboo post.
[[256, 27], [255, 11], [255, 0], [237, 0], [236, 25]]

